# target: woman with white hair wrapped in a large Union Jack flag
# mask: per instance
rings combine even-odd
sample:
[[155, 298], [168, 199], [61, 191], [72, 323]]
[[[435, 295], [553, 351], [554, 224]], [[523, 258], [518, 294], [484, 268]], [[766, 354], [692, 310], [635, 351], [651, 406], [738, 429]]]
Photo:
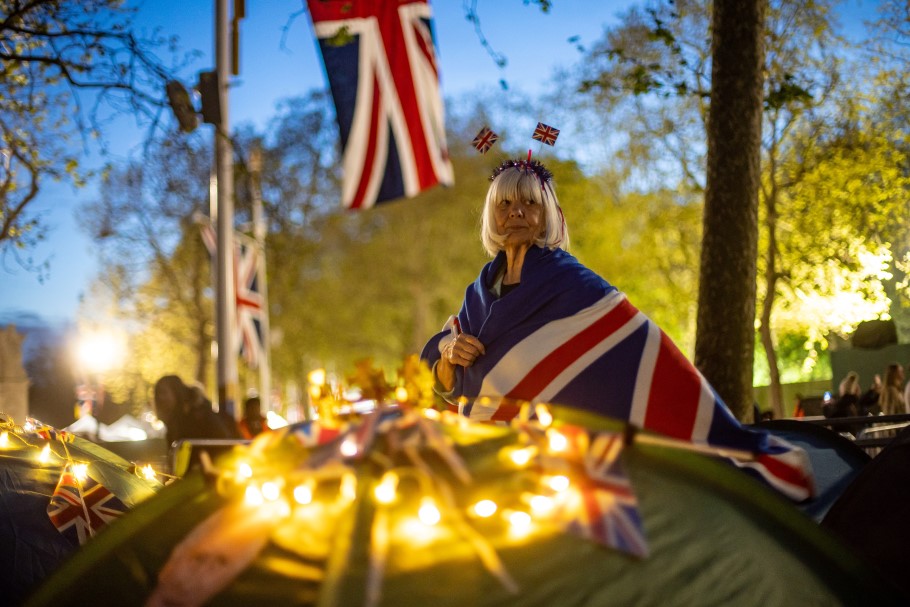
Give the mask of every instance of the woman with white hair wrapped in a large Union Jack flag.
[[812, 494], [802, 450], [741, 426], [660, 328], [566, 251], [553, 175], [540, 162], [496, 168], [480, 236], [493, 260], [421, 353], [453, 408], [494, 421], [524, 402], [584, 409], [748, 450], [756, 456], [744, 469], [793, 499]]

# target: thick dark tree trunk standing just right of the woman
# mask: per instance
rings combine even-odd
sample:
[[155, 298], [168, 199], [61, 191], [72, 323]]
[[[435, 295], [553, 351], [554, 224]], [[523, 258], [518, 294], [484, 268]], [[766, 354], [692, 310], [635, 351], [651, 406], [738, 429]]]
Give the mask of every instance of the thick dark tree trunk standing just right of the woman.
[[767, 0], [715, 0], [695, 364], [736, 417], [751, 411]]

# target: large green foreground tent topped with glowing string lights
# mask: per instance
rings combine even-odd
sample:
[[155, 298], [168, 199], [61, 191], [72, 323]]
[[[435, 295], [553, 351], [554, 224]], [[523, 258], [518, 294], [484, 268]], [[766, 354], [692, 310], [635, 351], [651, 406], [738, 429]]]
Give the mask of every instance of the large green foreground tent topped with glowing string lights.
[[[179, 605], [906, 604], [735, 467], [632, 440], [613, 420], [554, 412], [549, 428], [415, 422], [413, 414], [382, 423], [377, 414], [372, 428], [369, 420], [342, 431], [291, 427], [166, 487], [83, 547], [27, 605], [165, 604], [167, 584], [168, 604]], [[644, 551], [593, 541], [585, 531], [596, 520], [556, 516], [516, 532], [505, 521], [527, 517], [499, 516], [521, 511], [546, 475], [564, 470], [573, 485], [587, 482], [573, 467], [580, 460], [546, 451], [551, 428], [558, 436], [584, 429], [586, 457], [598, 437], [622, 439], [617, 462], [637, 497]], [[522, 454], [525, 463], [513, 457]], [[382, 505], [374, 495], [390, 471], [397, 501]], [[290, 498], [302, 488], [306, 506]], [[441, 522], [408, 527], [403, 512], [428, 495], [442, 504]], [[497, 514], [468, 514], [484, 496]]]

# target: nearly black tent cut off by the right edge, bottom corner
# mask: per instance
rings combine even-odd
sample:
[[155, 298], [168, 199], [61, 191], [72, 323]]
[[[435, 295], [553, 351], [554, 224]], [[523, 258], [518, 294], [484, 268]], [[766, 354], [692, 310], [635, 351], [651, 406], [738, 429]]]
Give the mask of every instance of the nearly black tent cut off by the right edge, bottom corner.
[[872, 459], [821, 524], [910, 596], [910, 427]]

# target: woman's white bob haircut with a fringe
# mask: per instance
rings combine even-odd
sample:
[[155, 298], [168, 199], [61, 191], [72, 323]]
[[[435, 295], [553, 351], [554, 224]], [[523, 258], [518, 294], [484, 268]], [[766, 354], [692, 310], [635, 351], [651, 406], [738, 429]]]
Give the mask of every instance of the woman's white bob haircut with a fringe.
[[[480, 224], [480, 241], [490, 257], [496, 257], [506, 240], [504, 235], [496, 231], [495, 218], [496, 205], [503, 200], [533, 200], [542, 205], [543, 230], [534, 244], [546, 249], [569, 248], [569, 229], [559, 208], [553, 181], [541, 179], [538, 172], [525, 166], [524, 162], [520, 162], [517, 166], [505, 168], [496, 175], [487, 190]], [[549, 175], [549, 171], [546, 172]]]

